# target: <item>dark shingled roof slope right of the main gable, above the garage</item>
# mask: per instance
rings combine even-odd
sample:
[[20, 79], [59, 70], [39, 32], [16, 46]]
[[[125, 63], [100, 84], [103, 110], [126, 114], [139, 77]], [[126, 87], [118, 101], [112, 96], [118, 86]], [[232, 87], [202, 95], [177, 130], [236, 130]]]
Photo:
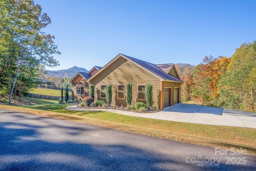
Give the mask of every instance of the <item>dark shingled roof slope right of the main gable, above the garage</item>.
[[161, 70], [161, 68], [159, 68], [158, 66], [156, 66], [155, 64], [151, 64], [142, 60], [138, 60], [136, 58], [132, 58], [130, 56], [126, 56], [124, 54], [122, 54], [123, 56], [125, 56], [126, 58], [128, 58], [129, 60], [137, 63], [138, 65], [142, 66], [143, 68], [145, 68], [146, 70], [156, 74], [157, 76], [159, 76], [160, 78], [164, 79], [164, 80], [170, 80], [170, 81], [177, 81], [177, 82], [182, 82], [182, 80], [172, 76], [171, 74], [167, 74], [166, 72], [164, 72], [163, 70]]

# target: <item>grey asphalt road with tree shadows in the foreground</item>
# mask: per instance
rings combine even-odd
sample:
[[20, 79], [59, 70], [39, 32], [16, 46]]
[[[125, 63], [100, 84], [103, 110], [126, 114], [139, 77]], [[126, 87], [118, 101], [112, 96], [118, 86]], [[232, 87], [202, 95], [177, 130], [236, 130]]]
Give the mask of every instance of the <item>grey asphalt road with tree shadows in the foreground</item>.
[[0, 109], [0, 170], [255, 171], [256, 157]]

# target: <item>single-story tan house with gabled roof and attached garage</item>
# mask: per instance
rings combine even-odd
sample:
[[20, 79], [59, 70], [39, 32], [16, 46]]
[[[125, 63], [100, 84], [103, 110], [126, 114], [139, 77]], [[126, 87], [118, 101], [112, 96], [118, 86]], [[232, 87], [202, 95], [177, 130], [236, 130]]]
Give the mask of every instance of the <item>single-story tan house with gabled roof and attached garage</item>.
[[146, 84], [152, 84], [152, 105], [159, 109], [180, 103], [182, 84], [174, 64], [155, 65], [123, 54], [92, 75], [89, 72], [78, 73], [70, 82], [74, 100], [88, 95], [89, 85], [95, 85], [94, 101], [106, 101], [106, 87], [112, 84], [111, 104], [124, 106], [126, 84], [132, 84], [132, 105], [138, 101], [146, 103]]

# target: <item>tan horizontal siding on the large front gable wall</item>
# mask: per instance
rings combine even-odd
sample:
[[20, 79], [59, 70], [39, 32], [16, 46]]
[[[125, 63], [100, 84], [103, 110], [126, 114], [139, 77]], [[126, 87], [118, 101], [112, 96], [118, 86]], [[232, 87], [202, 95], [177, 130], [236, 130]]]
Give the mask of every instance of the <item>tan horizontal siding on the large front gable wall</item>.
[[[110, 64], [104, 71], [91, 80], [95, 85], [95, 100], [100, 100], [100, 85], [112, 84], [112, 105], [126, 106], [125, 99], [117, 99], [117, 85], [127, 83], [132, 84], [132, 105], [137, 101], [137, 84], [153, 85], [153, 105], [158, 106], [158, 90], [160, 90], [160, 79], [136, 66], [132, 62], [120, 57], [113, 64]], [[103, 99], [106, 101], [106, 99]], [[143, 101], [146, 103], [146, 101]]]

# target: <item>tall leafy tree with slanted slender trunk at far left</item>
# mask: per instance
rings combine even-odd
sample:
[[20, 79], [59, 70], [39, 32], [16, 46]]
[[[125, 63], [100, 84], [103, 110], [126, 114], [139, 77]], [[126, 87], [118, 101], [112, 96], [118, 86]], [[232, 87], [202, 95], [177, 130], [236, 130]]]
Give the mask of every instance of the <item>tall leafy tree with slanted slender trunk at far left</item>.
[[[28, 68], [39, 64], [57, 66], [51, 56], [60, 54], [54, 44], [54, 36], [43, 32], [51, 23], [46, 13], [33, 0], [0, 1], [0, 75], [12, 80], [9, 103], [22, 66]], [[7, 77], [5, 77], [7, 78]]]

